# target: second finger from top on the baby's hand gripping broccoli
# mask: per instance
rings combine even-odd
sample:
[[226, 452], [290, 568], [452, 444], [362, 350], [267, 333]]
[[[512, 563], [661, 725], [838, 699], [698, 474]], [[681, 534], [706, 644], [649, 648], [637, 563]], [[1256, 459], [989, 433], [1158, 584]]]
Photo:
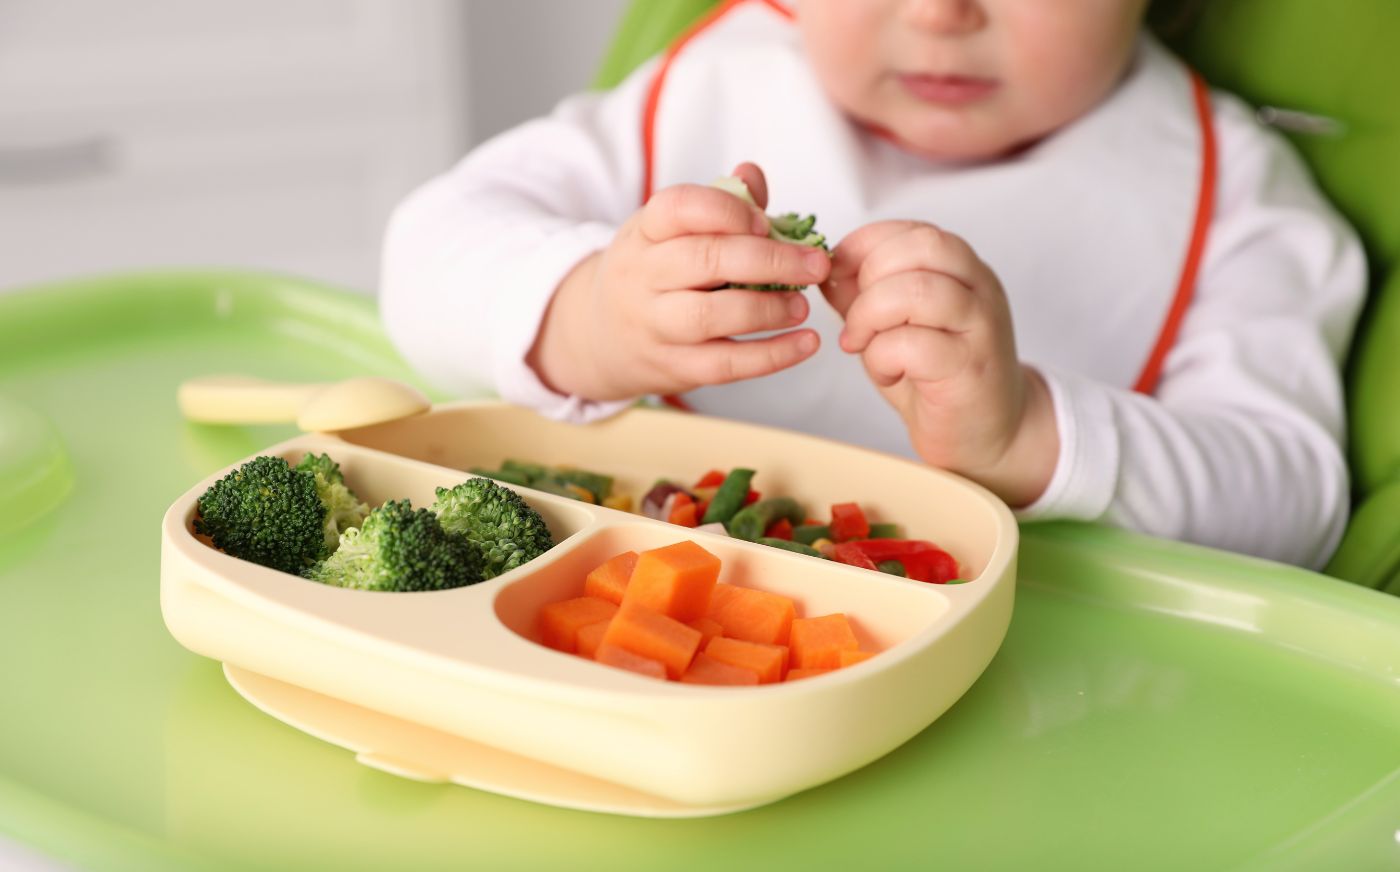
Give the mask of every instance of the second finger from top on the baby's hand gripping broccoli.
[[[724, 195], [734, 200], [729, 195]], [[651, 284], [665, 290], [735, 284], [816, 284], [830, 259], [819, 248], [762, 237], [689, 235], [647, 251]]]

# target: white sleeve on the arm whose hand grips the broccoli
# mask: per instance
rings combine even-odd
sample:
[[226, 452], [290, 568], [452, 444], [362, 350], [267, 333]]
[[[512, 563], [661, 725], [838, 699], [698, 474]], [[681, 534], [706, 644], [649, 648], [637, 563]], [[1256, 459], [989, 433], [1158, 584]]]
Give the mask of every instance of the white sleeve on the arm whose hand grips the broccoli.
[[479, 146], [393, 211], [381, 315], [430, 382], [456, 396], [494, 392], [570, 421], [629, 405], [556, 393], [525, 356], [560, 281], [606, 248], [638, 206], [651, 67]]

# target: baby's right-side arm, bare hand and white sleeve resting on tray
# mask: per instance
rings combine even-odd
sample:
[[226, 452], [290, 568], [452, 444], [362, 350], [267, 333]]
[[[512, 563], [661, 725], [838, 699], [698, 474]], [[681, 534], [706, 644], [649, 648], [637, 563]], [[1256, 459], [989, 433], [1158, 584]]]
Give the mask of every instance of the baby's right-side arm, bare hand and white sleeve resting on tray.
[[823, 290], [847, 315], [841, 344], [921, 456], [1023, 516], [1317, 567], [1348, 511], [1338, 360], [1365, 260], [1291, 151], [1259, 140], [1226, 158], [1196, 301], [1154, 396], [1019, 365], [995, 276], [927, 225], [871, 225], [837, 248]]

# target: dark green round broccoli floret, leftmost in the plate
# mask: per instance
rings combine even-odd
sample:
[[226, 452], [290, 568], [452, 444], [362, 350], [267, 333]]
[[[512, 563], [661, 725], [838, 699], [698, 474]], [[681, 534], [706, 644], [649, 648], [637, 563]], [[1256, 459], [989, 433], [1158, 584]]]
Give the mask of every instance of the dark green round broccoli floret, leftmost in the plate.
[[260, 456], [204, 491], [195, 532], [234, 557], [301, 572], [329, 554], [326, 514], [314, 474]]

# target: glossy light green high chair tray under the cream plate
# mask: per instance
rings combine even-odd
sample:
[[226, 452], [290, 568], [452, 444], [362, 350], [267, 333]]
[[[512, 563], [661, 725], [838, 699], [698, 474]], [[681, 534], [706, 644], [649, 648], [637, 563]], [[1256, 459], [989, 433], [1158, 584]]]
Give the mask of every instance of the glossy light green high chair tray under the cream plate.
[[358, 766], [161, 623], [164, 509], [291, 435], [183, 421], [176, 385], [218, 371], [412, 378], [368, 301], [290, 279], [0, 297], [3, 838], [143, 872], [1400, 865], [1400, 600], [1089, 526], [1023, 530], [952, 710], [770, 806], [647, 820]]

